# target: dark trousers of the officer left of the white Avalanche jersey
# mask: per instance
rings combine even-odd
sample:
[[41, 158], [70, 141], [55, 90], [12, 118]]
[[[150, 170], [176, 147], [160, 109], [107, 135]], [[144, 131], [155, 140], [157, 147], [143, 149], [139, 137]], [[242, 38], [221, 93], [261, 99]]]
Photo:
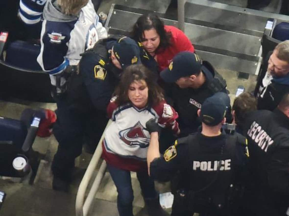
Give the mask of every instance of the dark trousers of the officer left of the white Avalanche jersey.
[[[71, 180], [74, 161], [82, 152], [84, 141], [88, 145], [97, 145], [108, 119], [106, 114], [86, 105], [71, 103], [67, 98], [55, 98], [57, 103], [57, 121], [53, 134], [58, 141], [58, 149], [52, 161], [52, 172], [65, 181]], [[85, 101], [80, 104], [85, 104]]]

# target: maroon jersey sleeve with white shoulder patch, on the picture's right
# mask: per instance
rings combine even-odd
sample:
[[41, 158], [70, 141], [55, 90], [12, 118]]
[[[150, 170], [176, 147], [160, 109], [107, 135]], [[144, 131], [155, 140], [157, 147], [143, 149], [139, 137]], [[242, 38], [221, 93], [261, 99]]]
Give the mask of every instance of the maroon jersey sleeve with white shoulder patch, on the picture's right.
[[158, 105], [153, 107], [153, 109], [158, 113], [158, 123], [162, 127], [171, 128], [174, 134], [179, 131], [179, 124], [176, 121], [179, 115], [173, 107], [166, 103], [166, 101], [160, 102]]

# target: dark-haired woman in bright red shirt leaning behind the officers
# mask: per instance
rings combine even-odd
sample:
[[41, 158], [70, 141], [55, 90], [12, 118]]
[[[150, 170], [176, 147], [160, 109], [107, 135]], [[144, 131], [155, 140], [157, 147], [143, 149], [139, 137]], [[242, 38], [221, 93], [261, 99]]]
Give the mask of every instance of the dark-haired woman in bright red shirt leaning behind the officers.
[[140, 16], [134, 24], [131, 37], [140, 42], [144, 50], [157, 61], [159, 71], [167, 68], [177, 53], [194, 52], [190, 39], [181, 30], [164, 25], [154, 14]]

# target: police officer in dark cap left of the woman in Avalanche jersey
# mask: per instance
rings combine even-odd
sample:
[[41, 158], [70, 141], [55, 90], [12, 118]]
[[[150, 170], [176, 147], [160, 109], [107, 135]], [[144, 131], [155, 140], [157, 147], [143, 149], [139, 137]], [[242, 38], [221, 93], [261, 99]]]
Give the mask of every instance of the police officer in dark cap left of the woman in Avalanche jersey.
[[125, 67], [140, 63], [140, 50], [128, 37], [99, 40], [82, 54], [79, 73], [69, 78], [66, 98], [58, 102], [53, 133], [59, 145], [53, 158], [53, 189], [68, 191], [82, 144], [93, 153], [107, 124], [106, 107]]

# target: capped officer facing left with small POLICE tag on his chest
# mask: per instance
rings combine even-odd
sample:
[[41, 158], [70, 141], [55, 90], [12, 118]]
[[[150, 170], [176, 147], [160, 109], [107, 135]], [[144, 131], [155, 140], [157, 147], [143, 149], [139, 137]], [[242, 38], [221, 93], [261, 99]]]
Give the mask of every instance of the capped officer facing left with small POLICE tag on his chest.
[[[216, 92], [227, 92], [226, 81], [207, 61], [192, 52], [180, 52], [167, 69], [160, 73], [167, 83], [174, 83], [171, 92], [166, 91], [173, 99], [173, 107], [179, 113], [181, 136], [195, 132], [201, 122], [197, 119], [197, 110], [206, 98]], [[231, 106], [229, 106], [230, 109]], [[231, 112], [227, 112], [227, 121]]]

